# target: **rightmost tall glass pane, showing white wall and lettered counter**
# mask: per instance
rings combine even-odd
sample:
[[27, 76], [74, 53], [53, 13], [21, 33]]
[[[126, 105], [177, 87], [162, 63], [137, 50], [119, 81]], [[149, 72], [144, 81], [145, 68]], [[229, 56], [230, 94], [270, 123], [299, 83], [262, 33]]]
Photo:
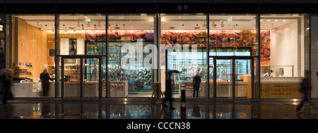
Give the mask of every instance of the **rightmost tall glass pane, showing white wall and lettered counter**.
[[260, 18], [261, 98], [300, 98], [309, 70], [307, 14], [263, 14]]

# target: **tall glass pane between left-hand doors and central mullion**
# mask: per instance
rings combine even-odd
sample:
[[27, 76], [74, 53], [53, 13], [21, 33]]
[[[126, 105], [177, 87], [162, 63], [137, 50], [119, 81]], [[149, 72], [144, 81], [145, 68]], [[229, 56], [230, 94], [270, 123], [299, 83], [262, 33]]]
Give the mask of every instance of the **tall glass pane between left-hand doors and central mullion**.
[[107, 18], [109, 96], [150, 97], [157, 67], [155, 15], [110, 14]]

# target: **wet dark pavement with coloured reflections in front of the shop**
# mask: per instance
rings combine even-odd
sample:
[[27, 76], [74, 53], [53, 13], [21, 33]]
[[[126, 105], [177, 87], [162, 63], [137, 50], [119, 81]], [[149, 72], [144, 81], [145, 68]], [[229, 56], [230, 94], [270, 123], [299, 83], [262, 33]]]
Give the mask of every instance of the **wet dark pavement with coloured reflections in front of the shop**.
[[175, 110], [160, 103], [126, 104], [90, 101], [13, 101], [0, 104], [0, 118], [13, 119], [317, 119], [318, 103], [289, 102], [200, 102], [187, 103], [185, 112], [179, 102]]

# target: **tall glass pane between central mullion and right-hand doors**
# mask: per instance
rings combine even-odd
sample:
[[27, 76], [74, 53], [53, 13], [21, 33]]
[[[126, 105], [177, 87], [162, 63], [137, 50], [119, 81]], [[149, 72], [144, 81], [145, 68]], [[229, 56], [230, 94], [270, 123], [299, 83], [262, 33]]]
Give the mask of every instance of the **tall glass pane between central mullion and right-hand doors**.
[[[166, 67], [167, 71], [180, 71], [180, 85], [185, 85], [187, 97], [206, 97], [208, 92], [208, 84], [206, 84], [206, 80], [208, 80], [206, 15], [204, 13], [162, 13], [159, 20], [162, 90], [165, 91]], [[162, 52], [162, 50], [167, 51], [167, 53]], [[201, 82], [199, 83], [199, 91], [194, 91], [192, 81], [197, 72], [201, 77]], [[179, 98], [181, 96], [179, 89], [178, 86], [172, 87], [172, 97]]]

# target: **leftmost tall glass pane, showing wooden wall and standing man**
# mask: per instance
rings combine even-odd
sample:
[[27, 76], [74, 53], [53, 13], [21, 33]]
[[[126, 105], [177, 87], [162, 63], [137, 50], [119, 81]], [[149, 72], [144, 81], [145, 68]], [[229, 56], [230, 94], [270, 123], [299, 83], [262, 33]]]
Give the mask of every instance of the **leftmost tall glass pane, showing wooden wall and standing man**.
[[[55, 15], [9, 15], [13, 96], [55, 96]], [[1, 28], [1, 25], [0, 25]], [[43, 73], [43, 76], [40, 76]], [[42, 82], [41, 82], [42, 81]]]

